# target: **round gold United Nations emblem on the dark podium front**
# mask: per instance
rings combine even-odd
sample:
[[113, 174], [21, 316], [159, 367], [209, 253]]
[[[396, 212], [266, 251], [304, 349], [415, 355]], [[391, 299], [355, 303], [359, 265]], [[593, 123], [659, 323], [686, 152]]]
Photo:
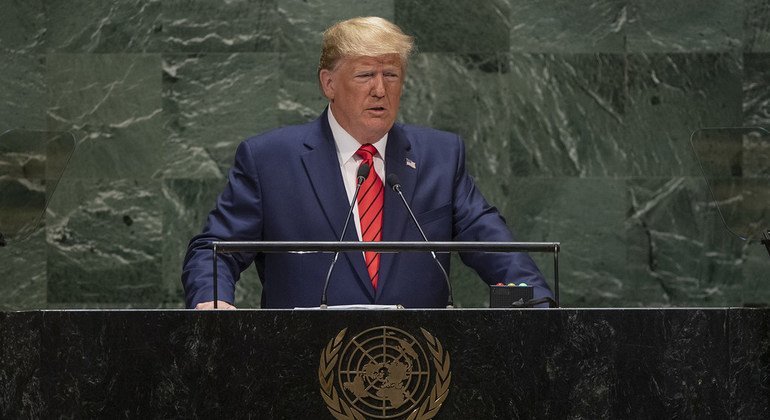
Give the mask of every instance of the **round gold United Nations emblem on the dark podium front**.
[[[422, 340], [381, 326], [345, 340], [347, 328], [321, 352], [321, 396], [337, 419], [432, 419], [449, 394], [449, 353], [420, 328]], [[427, 351], [426, 351], [427, 349]]]

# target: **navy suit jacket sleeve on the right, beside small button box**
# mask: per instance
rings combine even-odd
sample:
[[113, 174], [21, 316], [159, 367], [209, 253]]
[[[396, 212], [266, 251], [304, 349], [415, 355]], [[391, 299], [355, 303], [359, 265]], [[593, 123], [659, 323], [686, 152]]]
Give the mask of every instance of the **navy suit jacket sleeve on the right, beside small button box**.
[[[498, 210], [491, 206], [465, 170], [465, 146], [460, 143], [460, 157], [454, 180], [454, 226], [457, 241], [513, 242], [513, 233]], [[534, 287], [534, 297], [553, 293], [532, 258], [526, 253], [460, 253], [462, 261], [473, 268], [488, 284], [527, 283]]]

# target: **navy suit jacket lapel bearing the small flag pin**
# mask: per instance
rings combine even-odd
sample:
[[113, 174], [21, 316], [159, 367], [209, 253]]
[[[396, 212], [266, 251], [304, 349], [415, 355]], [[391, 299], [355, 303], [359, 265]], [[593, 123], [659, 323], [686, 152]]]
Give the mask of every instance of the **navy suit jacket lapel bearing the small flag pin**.
[[[408, 164], [411, 162], [411, 164]], [[401, 183], [401, 191], [407, 202], [412, 203], [415, 186], [417, 185], [417, 171], [415, 162], [417, 159], [412, 154], [412, 146], [405, 133], [398, 125], [394, 125], [388, 134], [388, 146], [385, 151], [385, 176], [395, 174]], [[413, 165], [415, 167], [412, 167]], [[385, 185], [385, 203], [383, 208], [383, 241], [401, 241], [404, 238], [404, 229], [407, 223], [413, 223], [411, 217], [404, 208], [401, 198], [388, 185]], [[377, 287], [377, 297], [387, 287], [389, 275], [393, 271], [393, 264], [397, 253], [380, 254], [380, 283]]]

